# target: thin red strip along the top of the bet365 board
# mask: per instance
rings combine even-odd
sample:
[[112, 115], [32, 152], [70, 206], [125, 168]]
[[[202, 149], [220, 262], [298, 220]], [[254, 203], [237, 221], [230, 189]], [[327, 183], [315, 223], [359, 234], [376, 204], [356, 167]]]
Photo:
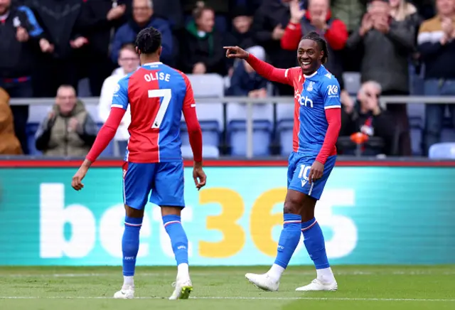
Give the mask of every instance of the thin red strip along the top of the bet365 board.
[[[57, 168], [79, 167], [82, 160], [78, 159], [0, 159], [0, 168]], [[121, 167], [123, 161], [118, 159], [99, 159], [95, 161], [95, 167]], [[184, 161], [186, 167], [193, 166], [193, 161]], [[204, 166], [208, 167], [286, 167], [286, 160], [205, 160]], [[425, 161], [425, 160], [340, 160], [336, 166], [384, 166], [384, 167], [455, 167], [455, 161]]]

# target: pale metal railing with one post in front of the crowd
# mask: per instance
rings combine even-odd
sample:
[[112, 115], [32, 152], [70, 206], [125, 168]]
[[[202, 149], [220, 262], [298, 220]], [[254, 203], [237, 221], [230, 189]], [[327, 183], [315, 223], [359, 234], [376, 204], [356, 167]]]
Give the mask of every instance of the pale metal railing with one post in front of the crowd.
[[[98, 105], [98, 97], [87, 97], [81, 98], [85, 105]], [[11, 105], [53, 105], [55, 98], [12, 98], [10, 100]], [[253, 155], [253, 109], [252, 105], [257, 103], [287, 103], [293, 104], [294, 97], [267, 97], [267, 98], [248, 98], [248, 97], [196, 97], [198, 103], [246, 103], [247, 104], [247, 115], [246, 115], [246, 129], [247, 129], [247, 158], [252, 158]], [[386, 104], [455, 104], [455, 96], [383, 96], [380, 97], [381, 105]]]

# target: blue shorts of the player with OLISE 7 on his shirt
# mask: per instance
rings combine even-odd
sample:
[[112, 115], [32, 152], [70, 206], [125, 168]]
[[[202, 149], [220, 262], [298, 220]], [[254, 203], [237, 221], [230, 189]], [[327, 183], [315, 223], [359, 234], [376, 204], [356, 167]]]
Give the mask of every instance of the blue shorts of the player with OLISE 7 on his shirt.
[[185, 207], [183, 198], [183, 162], [123, 164], [123, 202], [143, 210], [150, 202], [159, 206]]

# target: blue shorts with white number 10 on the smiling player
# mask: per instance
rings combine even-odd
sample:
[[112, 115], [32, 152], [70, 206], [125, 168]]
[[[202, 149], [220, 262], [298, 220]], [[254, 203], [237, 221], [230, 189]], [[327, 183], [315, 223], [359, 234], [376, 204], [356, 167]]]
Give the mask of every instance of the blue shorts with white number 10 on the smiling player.
[[299, 191], [317, 200], [321, 198], [324, 186], [328, 176], [335, 166], [336, 155], [329, 156], [324, 165], [322, 178], [316, 182], [309, 183], [308, 176], [311, 165], [316, 160], [316, 155], [304, 155], [301, 153], [292, 152], [289, 155], [289, 166], [287, 169], [287, 188], [294, 191]]

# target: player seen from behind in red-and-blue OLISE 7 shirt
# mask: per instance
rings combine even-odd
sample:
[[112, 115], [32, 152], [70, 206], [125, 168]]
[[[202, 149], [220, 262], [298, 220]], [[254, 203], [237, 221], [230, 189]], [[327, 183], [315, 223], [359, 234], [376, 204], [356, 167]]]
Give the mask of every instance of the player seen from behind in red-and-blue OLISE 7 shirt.
[[186, 119], [193, 149], [193, 178], [196, 188], [205, 185], [202, 169], [202, 133], [196, 117], [196, 104], [188, 77], [159, 62], [161, 33], [145, 28], [136, 38], [141, 68], [119, 81], [112, 108], [89, 154], [73, 176], [79, 191], [90, 165], [114, 137], [128, 105], [131, 109], [130, 138], [123, 166], [123, 196], [126, 210], [122, 238], [122, 289], [114, 298], [134, 297], [134, 268], [139, 250], [139, 230], [144, 207], [150, 202], [161, 207], [164, 227], [178, 265], [175, 290], [169, 299], [188, 299], [193, 289], [188, 272], [188, 239], [181, 225], [183, 201], [183, 162], [180, 120]]

